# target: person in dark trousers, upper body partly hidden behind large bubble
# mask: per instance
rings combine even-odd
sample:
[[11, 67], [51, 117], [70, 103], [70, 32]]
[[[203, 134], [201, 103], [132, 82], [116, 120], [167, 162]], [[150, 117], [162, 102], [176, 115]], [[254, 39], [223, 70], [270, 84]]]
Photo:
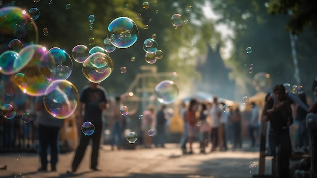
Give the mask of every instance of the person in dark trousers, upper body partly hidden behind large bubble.
[[38, 124], [39, 158], [41, 160], [41, 167], [38, 171], [47, 171], [48, 147], [50, 147], [51, 151], [51, 171], [56, 171], [59, 153], [58, 142], [63, 120], [53, 117], [46, 111], [43, 104], [43, 96], [36, 97], [35, 110], [38, 112], [36, 124]]

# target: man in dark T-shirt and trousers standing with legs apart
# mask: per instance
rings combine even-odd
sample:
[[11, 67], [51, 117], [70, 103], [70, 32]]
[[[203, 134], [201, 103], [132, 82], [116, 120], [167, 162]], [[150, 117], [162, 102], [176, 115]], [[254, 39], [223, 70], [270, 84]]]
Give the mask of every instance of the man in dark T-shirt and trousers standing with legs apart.
[[[95, 131], [90, 136], [81, 133], [80, 143], [72, 162], [72, 172], [75, 172], [80, 165], [90, 139], [92, 139], [93, 143], [90, 168], [95, 171], [98, 170], [97, 164], [102, 130], [102, 111], [106, 108], [108, 108], [108, 96], [106, 90], [99, 86], [99, 83], [89, 82], [89, 84], [82, 89], [80, 94], [77, 124], [78, 127], [81, 127], [84, 122], [89, 121], [94, 124]], [[82, 117], [83, 110], [84, 118]]]

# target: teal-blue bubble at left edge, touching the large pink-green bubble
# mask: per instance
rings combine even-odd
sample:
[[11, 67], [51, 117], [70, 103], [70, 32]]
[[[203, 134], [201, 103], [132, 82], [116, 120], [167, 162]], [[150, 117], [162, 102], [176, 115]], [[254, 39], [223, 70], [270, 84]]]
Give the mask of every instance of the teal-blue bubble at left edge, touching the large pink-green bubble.
[[6, 51], [0, 55], [0, 72], [3, 74], [14, 74], [26, 64], [15, 51]]

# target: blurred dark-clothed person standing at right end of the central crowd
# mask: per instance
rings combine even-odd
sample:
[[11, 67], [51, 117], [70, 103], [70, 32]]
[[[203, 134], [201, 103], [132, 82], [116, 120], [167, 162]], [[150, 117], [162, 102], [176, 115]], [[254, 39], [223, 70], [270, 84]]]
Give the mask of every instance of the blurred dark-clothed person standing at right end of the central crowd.
[[231, 121], [233, 129], [233, 149], [242, 147], [241, 140], [241, 114], [239, 106], [231, 112]]

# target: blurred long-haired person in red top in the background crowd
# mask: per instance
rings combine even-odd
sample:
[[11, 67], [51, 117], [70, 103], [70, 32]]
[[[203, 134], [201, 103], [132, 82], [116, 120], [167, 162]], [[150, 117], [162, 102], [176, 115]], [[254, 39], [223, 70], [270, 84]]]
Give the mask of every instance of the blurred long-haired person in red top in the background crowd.
[[198, 109], [198, 102], [196, 99], [191, 99], [189, 108], [186, 112], [187, 122], [188, 122], [188, 141], [189, 141], [189, 154], [192, 154], [192, 143], [194, 141], [196, 135], [196, 125], [197, 125], [197, 118], [196, 118], [196, 111]]

